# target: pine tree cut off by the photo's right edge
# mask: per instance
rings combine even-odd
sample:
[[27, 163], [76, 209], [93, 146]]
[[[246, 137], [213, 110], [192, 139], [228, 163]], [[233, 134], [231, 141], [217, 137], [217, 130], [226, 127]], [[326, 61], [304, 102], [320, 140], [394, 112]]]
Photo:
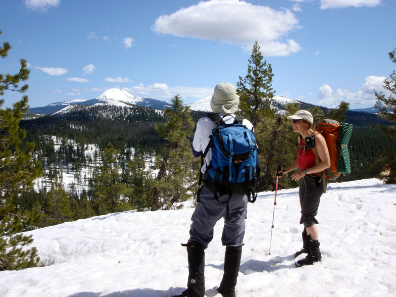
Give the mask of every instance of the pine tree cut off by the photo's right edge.
[[[396, 64], [396, 48], [389, 52], [389, 58]], [[375, 92], [377, 102], [374, 107], [378, 110], [379, 116], [389, 121], [389, 125], [380, 125], [379, 129], [384, 131], [388, 137], [396, 140], [396, 71], [394, 70], [390, 79], [384, 80], [384, 89], [389, 91], [390, 95], [386, 97], [382, 92]], [[388, 184], [396, 183], [396, 160], [395, 150], [387, 150], [379, 153], [378, 160], [374, 164], [374, 172], [380, 178], [383, 178]]]

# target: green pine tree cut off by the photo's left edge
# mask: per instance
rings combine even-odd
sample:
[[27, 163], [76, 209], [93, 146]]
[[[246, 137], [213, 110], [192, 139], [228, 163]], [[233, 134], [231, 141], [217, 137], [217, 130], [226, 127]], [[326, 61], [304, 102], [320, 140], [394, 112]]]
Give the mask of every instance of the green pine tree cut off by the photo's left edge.
[[[11, 46], [7, 42], [2, 45], [0, 55], [5, 58]], [[0, 96], [5, 91], [26, 92], [28, 85], [18, 84], [26, 81], [29, 74], [24, 59], [20, 60], [17, 74], [0, 74]], [[26, 132], [19, 128], [19, 122], [27, 111], [27, 102], [27, 96], [23, 96], [13, 108], [1, 109], [4, 99], [0, 100], [0, 271], [35, 267], [39, 262], [36, 247], [24, 248], [33, 242], [32, 236], [21, 233], [32, 228], [39, 214], [22, 212], [15, 203], [20, 193], [41, 174], [40, 165], [32, 160], [33, 144], [22, 144]]]

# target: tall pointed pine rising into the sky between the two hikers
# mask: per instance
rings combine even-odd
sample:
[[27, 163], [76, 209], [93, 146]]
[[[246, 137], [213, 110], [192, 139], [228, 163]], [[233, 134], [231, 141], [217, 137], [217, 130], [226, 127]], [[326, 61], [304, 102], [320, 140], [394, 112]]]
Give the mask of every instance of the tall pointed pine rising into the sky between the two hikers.
[[237, 83], [242, 115], [251, 121], [253, 127], [268, 113], [274, 115], [270, 110], [271, 100], [275, 94], [272, 89], [274, 74], [271, 64], [263, 58], [256, 41], [248, 59], [247, 75], [244, 78], [240, 76]]

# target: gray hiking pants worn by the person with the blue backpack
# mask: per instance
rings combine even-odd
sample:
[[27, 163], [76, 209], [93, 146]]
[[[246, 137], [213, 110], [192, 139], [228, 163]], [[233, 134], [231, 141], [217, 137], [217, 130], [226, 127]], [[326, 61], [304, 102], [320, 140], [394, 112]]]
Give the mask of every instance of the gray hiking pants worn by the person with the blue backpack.
[[[220, 201], [227, 201], [228, 195], [219, 196]], [[233, 195], [229, 201], [229, 215], [226, 220], [227, 204], [214, 198], [205, 186], [202, 186], [200, 202], [197, 203], [191, 217], [193, 223], [190, 227], [188, 242], [198, 241], [207, 248], [213, 239], [213, 227], [224, 217], [223, 234], [221, 243], [226, 247], [240, 247], [244, 244], [245, 219], [247, 217], [247, 196]]]

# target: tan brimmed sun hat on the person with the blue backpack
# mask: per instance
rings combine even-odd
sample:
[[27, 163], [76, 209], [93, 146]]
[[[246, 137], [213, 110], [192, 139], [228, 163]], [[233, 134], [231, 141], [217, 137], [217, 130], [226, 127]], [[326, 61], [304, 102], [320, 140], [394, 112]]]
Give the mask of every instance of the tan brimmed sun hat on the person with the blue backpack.
[[233, 84], [220, 83], [214, 87], [210, 107], [214, 113], [235, 113], [239, 106], [239, 96]]

